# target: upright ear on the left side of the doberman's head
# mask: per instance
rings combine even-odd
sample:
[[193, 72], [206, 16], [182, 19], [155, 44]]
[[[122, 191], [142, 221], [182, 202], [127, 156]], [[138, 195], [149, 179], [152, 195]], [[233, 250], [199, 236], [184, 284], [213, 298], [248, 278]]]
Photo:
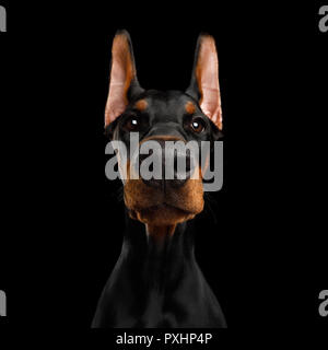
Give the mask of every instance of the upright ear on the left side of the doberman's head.
[[125, 112], [134, 95], [143, 91], [137, 79], [132, 44], [127, 31], [119, 31], [114, 37], [110, 66], [105, 127]]

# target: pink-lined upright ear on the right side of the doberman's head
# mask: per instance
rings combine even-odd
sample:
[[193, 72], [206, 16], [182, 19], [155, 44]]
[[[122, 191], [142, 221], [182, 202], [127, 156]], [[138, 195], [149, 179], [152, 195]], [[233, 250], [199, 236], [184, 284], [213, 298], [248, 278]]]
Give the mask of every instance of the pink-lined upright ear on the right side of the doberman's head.
[[214, 38], [208, 34], [198, 37], [191, 82], [186, 93], [199, 102], [202, 112], [222, 130], [218, 52]]

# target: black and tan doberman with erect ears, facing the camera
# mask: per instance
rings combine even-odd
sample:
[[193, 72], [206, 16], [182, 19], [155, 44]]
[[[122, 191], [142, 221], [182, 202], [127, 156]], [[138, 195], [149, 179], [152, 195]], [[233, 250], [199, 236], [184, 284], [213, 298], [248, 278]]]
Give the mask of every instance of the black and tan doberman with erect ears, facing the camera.
[[[186, 92], [160, 92], [140, 86], [130, 36], [119, 31], [113, 42], [105, 130], [110, 140], [122, 141], [128, 149], [132, 131], [139, 132], [139, 144], [156, 140], [162, 147], [167, 140], [200, 143], [221, 139], [213, 37], [200, 34]], [[222, 310], [194, 253], [191, 219], [203, 210], [202, 178], [132, 179], [129, 156], [124, 182], [127, 223], [122, 250], [92, 327], [225, 328]]]

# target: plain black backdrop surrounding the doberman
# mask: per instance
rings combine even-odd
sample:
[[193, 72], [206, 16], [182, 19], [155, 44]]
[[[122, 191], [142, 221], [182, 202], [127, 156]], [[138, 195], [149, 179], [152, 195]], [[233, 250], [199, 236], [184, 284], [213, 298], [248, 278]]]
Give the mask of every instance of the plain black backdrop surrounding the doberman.
[[327, 325], [319, 4], [1, 4], [8, 325], [89, 329], [119, 255], [124, 205], [104, 177], [103, 136], [118, 28], [130, 32], [145, 89], [186, 89], [198, 34], [216, 39], [224, 187], [218, 223], [198, 220], [197, 257], [230, 328]]

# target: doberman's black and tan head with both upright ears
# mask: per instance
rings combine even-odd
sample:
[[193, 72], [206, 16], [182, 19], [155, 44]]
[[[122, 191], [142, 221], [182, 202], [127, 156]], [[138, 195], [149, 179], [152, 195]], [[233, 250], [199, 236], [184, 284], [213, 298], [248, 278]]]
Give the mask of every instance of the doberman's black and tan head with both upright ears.
[[[131, 40], [119, 32], [113, 43], [109, 94], [105, 128], [112, 140], [120, 140], [130, 150], [130, 133], [138, 132], [139, 148], [156, 141], [164, 151], [167, 141], [215, 141], [222, 137], [222, 113], [214, 39], [198, 39], [190, 86], [186, 92], [144, 91], [137, 79]], [[164, 152], [163, 152], [164, 154]], [[199, 159], [185, 154], [186, 176], [181, 179], [173, 153], [172, 179], [133, 179], [143, 158], [119, 164], [127, 172], [125, 203], [130, 217], [152, 226], [175, 226], [192, 219], [203, 209], [202, 173]], [[207, 155], [208, 158], [210, 154]], [[160, 155], [163, 168], [167, 159]], [[119, 154], [118, 154], [118, 159]], [[197, 176], [195, 176], [197, 172]]]

